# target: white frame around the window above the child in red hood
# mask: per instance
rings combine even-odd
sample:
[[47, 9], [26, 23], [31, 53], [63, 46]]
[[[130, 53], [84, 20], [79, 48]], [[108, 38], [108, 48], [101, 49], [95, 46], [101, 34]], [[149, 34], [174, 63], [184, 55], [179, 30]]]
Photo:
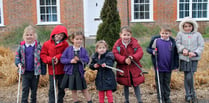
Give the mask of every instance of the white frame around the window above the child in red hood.
[[41, 14], [40, 14], [40, 0], [36, 0], [37, 5], [37, 25], [54, 25], [61, 24], [60, 20], [60, 0], [56, 0], [57, 3], [57, 21], [56, 22], [41, 22]]

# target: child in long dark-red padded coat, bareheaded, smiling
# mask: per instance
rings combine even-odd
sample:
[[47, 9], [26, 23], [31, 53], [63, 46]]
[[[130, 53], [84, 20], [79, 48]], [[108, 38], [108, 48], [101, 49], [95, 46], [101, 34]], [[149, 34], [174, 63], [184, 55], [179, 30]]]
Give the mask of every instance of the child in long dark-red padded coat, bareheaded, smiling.
[[117, 72], [117, 82], [124, 85], [125, 103], [129, 103], [129, 87], [134, 87], [134, 92], [138, 103], [142, 103], [139, 84], [144, 82], [144, 76], [141, 70], [132, 63], [134, 60], [141, 66], [139, 60], [143, 56], [143, 50], [138, 41], [132, 37], [129, 27], [121, 28], [120, 39], [113, 46], [113, 54], [117, 62], [117, 68], [124, 73]]

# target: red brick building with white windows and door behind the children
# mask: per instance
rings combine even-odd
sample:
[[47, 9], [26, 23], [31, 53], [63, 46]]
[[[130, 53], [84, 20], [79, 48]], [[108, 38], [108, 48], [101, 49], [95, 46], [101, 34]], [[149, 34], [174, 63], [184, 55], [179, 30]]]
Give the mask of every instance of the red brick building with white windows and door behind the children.
[[[0, 0], [0, 33], [23, 24], [83, 30], [95, 35], [105, 0]], [[122, 26], [143, 23], [178, 28], [185, 16], [198, 21], [200, 31], [209, 24], [209, 0], [118, 0]]]

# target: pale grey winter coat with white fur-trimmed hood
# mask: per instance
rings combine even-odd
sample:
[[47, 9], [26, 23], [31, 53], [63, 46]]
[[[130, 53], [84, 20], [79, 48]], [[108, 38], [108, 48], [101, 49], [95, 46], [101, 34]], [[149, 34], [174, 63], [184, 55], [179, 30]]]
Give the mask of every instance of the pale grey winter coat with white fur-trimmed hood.
[[[183, 29], [183, 25], [188, 22], [193, 24], [193, 31], [186, 33]], [[204, 39], [202, 35], [197, 32], [198, 24], [192, 18], [186, 17], [179, 24], [179, 32], [176, 36], [176, 45], [179, 52], [180, 60], [190, 61], [190, 60], [200, 60], [201, 54], [204, 49]], [[188, 56], [183, 56], [183, 49], [187, 49], [190, 52], [195, 52], [196, 57], [189, 58]]]

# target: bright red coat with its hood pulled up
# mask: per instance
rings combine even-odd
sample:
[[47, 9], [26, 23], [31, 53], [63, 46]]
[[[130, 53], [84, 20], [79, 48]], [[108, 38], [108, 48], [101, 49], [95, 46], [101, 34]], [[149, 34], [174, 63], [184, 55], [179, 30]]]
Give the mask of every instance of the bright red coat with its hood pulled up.
[[[53, 36], [59, 33], [64, 33], [65, 37], [61, 43], [55, 45]], [[69, 46], [66, 41], [67, 38], [67, 29], [64, 26], [58, 25], [51, 32], [50, 39], [43, 44], [40, 56], [42, 61], [48, 64], [49, 75], [53, 75], [52, 58], [54, 56], [59, 60], [58, 64], [55, 65], [55, 75], [64, 74], [64, 65], [60, 63], [60, 57], [62, 56], [63, 51]]]

